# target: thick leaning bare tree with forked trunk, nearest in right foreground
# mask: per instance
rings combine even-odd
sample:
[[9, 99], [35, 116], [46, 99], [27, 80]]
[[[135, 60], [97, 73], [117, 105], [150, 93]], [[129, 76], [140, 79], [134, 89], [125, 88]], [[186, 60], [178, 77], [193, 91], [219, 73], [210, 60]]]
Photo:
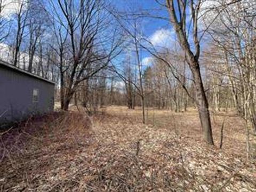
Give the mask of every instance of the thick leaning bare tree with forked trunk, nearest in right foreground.
[[[186, 53], [186, 60], [190, 67], [190, 70], [193, 74], [194, 84], [195, 84], [195, 92], [196, 92], [196, 105], [198, 108], [199, 118], [201, 121], [201, 125], [204, 131], [204, 139], [210, 145], [213, 145], [213, 137], [212, 137], [212, 127], [211, 127], [211, 119], [209, 113], [209, 104], [206, 98], [204, 85], [202, 82], [202, 76], [199, 65], [199, 57], [200, 57], [200, 43], [198, 37], [198, 15], [199, 9], [201, 6], [201, 1], [194, 2], [190, 1], [175, 1], [175, 0], [166, 0], [166, 8], [170, 14], [170, 21], [175, 29], [175, 32], [178, 36], [180, 46], [183, 51]], [[188, 30], [187, 29], [187, 18], [188, 15], [188, 7], [191, 12], [191, 26], [192, 26], [192, 34], [193, 34], [193, 46], [189, 44], [188, 40]], [[193, 48], [194, 47], [194, 50]]]

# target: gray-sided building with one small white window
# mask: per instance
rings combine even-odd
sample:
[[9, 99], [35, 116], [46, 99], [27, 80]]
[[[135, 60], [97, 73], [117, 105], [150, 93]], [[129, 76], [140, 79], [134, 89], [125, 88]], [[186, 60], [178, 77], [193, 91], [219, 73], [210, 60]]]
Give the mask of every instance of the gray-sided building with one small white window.
[[0, 125], [53, 111], [54, 85], [0, 60]]

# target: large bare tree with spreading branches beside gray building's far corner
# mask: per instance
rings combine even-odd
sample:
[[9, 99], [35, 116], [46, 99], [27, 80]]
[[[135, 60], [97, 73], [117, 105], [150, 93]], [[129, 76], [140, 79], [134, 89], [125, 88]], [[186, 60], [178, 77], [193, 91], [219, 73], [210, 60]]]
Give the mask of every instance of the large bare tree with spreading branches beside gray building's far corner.
[[63, 109], [68, 110], [79, 83], [105, 68], [118, 55], [116, 50], [121, 42], [115, 40], [118, 34], [111, 38], [105, 33], [109, 20], [103, 10], [106, 6], [103, 1], [52, 0], [51, 6], [56, 22], [68, 32], [70, 58], [67, 60], [69, 70], [63, 102]]

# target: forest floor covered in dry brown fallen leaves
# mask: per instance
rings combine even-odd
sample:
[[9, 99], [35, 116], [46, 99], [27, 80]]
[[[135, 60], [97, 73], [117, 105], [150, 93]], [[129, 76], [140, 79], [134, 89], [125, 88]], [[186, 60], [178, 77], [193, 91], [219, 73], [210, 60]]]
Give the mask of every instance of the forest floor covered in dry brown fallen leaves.
[[[212, 115], [215, 146], [198, 115], [107, 107], [31, 118], [0, 133], [0, 191], [256, 191], [243, 122]], [[223, 146], [219, 149], [220, 129]]]

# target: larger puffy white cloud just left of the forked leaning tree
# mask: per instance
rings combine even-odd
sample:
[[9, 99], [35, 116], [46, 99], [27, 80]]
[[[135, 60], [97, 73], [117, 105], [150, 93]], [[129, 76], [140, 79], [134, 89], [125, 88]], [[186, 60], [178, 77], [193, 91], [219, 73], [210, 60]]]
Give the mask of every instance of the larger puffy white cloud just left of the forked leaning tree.
[[170, 47], [175, 42], [175, 32], [170, 29], [158, 29], [149, 37], [155, 47]]

